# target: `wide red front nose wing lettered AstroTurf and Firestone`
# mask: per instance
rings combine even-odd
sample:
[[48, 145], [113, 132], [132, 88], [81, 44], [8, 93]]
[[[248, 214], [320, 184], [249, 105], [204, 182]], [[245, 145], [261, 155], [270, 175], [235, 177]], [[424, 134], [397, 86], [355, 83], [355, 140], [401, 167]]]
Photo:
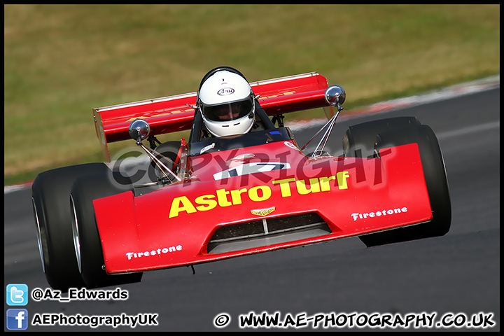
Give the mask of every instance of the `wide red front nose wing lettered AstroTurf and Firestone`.
[[246, 185], [238, 176], [94, 200], [106, 272], [192, 265], [433, 217], [416, 144], [381, 149], [380, 158], [318, 158], [294, 170]]

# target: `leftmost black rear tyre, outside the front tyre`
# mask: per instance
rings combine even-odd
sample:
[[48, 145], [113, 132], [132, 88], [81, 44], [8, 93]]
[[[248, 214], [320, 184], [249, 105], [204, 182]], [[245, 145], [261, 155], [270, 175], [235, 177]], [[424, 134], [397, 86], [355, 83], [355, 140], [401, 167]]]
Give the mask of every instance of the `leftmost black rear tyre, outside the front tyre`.
[[85, 286], [73, 249], [69, 195], [80, 176], [109, 172], [104, 163], [52, 169], [38, 174], [31, 186], [38, 250], [49, 286], [66, 292]]

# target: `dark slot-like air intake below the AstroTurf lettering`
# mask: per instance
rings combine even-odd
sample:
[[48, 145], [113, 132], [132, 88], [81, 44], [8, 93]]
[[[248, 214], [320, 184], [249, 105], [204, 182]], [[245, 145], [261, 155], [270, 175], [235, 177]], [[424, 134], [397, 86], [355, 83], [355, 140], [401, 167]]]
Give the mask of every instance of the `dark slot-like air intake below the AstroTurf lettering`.
[[207, 252], [239, 251], [318, 237], [330, 232], [327, 223], [315, 213], [264, 218], [218, 228], [209, 241]]

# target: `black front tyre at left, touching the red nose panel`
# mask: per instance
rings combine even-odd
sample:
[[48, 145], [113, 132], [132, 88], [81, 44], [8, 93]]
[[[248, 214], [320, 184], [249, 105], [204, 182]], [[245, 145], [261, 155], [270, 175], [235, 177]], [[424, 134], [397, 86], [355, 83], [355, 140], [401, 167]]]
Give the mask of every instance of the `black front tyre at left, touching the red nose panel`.
[[102, 241], [94, 217], [93, 200], [127, 191], [134, 193], [131, 179], [112, 172], [85, 176], [73, 183], [70, 207], [73, 213], [74, 255], [87, 288], [141, 281], [141, 272], [112, 275], [105, 272]]

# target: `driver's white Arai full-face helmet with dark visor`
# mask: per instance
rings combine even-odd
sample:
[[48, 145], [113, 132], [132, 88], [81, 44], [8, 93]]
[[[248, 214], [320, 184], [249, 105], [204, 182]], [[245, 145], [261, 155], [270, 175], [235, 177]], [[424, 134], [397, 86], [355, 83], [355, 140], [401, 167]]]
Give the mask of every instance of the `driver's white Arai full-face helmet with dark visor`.
[[202, 83], [198, 109], [204, 125], [215, 137], [245, 134], [254, 123], [255, 97], [238, 73], [220, 70]]

